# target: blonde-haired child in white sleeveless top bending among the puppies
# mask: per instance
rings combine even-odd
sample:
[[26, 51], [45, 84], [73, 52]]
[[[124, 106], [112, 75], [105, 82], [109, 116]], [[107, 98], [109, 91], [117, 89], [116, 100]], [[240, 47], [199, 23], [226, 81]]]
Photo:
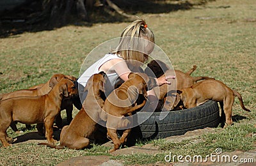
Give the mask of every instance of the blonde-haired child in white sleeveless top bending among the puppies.
[[[128, 80], [131, 72], [139, 72], [140, 66], [148, 59], [148, 54], [154, 50], [154, 34], [147, 27], [144, 20], [138, 19], [126, 27], [121, 34], [118, 47], [111, 54], [106, 54], [96, 63], [92, 64], [77, 82], [84, 89], [87, 80], [95, 73], [105, 72], [108, 76], [106, 96], [115, 88], [116, 84], [121, 84]], [[159, 77], [156, 79], [156, 86], [170, 84], [167, 79], [175, 79], [175, 77]], [[83, 103], [86, 94], [80, 94]], [[153, 109], [158, 103], [154, 90], [148, 91], [148, 101]]]

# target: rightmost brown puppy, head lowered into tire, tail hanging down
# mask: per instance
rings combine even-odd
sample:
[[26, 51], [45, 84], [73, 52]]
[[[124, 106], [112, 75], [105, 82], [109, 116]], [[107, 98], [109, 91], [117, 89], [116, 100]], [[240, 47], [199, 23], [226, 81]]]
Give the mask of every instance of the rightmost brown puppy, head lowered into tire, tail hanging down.
[[244, 107], [241, 94], [227, 87], [220, 80], [203, 80], [197, 82], [191, 87], [181, 89], [179, 95], [177, 95], [177, 101], [182, 100], [184, 107], [187, 109], [196, 107], [207, 100], [214, 100], [220, 102], [221, 116], [225, 116], [225, 125], [232, 124], [232, 105], [234, 103], [234, 96], [239, 98], [242, 109], [250, 112], [250, 110]]

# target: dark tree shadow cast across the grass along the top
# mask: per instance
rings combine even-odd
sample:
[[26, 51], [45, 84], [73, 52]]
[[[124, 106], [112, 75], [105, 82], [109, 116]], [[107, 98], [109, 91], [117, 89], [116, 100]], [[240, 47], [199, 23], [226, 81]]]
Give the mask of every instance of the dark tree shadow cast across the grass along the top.
[[[212, 1], [212, 0], [208, 0]], [[177, 10], [189, 10], [193, 8], [193, 3], [188, 1], [148, 1], [148, 0], [113, 0], [119, 8], [124, 10], [130, 15], [138, 15], [138, 13], [169, 13]], [[207, 1], [196, 1], [196, 5], [205, 4]], [[37, 18], [40, 20], [33, 22], [36, 17], [40, 17], [42, 9], [35, 7], [35, 3], [31, 6], [18, 7], [13, 11], [2, 11], [0, 13], [0, 38], [6, 38], [15, 34], [22, 34], [24, 32], [38, 32], [38, 31], [51, 31], [52, 29], [63, 27], [67, 25], [75, 26], [92, 26], [95, 23], [106, 22], [131, 22], [134, 19], [129, 19], [116, 13], [108, 5], [101, 7], [92, 7], [88, 9], [88, 17], [90, 21], [84, 22], [83, 20], [77, 20], [68, 18], [67, 24], [61, 26], [49, 26], [49, 19]]]

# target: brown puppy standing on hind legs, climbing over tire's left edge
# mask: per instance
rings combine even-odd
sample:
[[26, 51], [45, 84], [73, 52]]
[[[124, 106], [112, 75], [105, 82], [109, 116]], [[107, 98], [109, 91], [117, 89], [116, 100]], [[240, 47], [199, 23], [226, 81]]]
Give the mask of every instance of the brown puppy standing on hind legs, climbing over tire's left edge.
[[[108, 113], [106, 123], [108, 136], [114, 143], [114, 148], [109, 153], [118, 149], [121, 144], [124, 144], [131, 132], [131, 128], [129, 128], [131, 121], [129, 119], [123, 121], [123, 117], [131, 116], [132, 112], [143, 107], [146, 103], [147, 90], [154, 86], [156, 86], [156, 80], [148, 77], [145, 73], [130, 73], [129, 79], [109, 94], [104, 104], [104, 109]], [[141, 104], [136, 103], [139, 94], [145, 96]], [[120, 139], [116, 135], [116, 129], [118, 128], [125, 128]]]

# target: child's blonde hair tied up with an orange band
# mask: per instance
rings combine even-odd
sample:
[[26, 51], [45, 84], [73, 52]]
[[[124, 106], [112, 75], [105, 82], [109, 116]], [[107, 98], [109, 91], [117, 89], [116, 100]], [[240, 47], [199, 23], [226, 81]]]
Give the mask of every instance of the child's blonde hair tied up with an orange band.
[[144, 62], [143, 54], [148, 54], [146, 47], [150, 45], [154, 49], [154, 40], [154, 34], [145, 20], [138, 19], [124, 29], [115, 53], [120, 54], [129, 64], [138, 66]]

